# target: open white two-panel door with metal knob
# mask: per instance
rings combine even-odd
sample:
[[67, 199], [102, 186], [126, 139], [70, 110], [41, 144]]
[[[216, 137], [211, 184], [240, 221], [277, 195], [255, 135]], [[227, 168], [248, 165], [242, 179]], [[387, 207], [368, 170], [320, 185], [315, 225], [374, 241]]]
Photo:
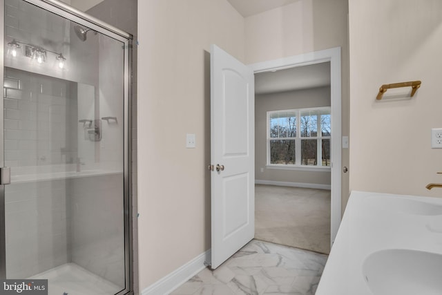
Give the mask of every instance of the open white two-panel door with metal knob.
[[255, 235], [253, 71], [211, 46], [211, 268]]

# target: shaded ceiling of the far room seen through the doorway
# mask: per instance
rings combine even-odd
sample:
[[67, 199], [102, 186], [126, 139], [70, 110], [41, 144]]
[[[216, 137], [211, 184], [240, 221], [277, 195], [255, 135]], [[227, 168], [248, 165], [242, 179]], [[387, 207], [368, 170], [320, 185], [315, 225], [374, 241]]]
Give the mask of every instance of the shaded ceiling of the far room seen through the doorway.
[[297, 91], [330, 85], [330, 62], [255, 74], [255, 93]]

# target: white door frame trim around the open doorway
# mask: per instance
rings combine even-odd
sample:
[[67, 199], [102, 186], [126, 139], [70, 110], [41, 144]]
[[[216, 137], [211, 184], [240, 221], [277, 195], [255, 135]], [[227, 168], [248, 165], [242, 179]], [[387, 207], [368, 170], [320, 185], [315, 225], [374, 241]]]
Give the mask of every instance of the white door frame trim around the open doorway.
[[333, 245], [341, 220], [341, 178], [342, 166], [342, 99], [341, 99], [341, 69], [340, 69], [340, 47], [329, 48], [325, 50], [262, 61], [256, 64], [249, 64], [253, 73], [263, 73], [274, 70], [283, 70], [286, 68], [295, 68], [298, 66], [308, 66], [330, 62], [330, 104], [332, 115], [332, 140], [330, 146], [331, 155], [331, 177], [332, 177], [332, 196], [330, 208], [330, 245]]

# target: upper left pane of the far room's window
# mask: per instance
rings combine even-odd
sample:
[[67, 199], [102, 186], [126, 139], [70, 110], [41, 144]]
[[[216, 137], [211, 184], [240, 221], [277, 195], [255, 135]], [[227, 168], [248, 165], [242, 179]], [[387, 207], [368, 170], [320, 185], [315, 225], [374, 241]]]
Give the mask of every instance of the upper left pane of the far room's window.
[[272, 113], [269, 120], [269, 137], [296, 137], [296, 113]]

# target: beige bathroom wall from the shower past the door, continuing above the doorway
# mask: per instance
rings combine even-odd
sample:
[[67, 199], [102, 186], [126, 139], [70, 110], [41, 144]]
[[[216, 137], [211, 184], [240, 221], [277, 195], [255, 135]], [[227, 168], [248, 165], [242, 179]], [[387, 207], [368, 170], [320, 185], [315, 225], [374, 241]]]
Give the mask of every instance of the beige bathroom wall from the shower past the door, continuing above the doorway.
[[[347, 1], [301, 0], [246, 19], [226, 0], [138, 1], [138, 19], [142, 290], [210, 247], [209, 45], [247, 64], [342, 47], [347, 135]], [[196, 149], [185, 149], [186, 133]]]

